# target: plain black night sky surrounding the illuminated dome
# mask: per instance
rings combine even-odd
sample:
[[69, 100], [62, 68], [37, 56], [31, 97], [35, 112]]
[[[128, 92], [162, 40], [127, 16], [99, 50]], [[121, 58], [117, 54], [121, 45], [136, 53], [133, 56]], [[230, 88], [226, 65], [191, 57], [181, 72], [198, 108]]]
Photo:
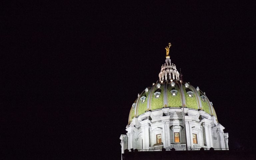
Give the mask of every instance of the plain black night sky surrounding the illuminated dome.
[[[230, 149], [255, 142], [255, 3], [10, 3], [1, 28], [9, 159], [119, 159], [165, 47], [213, 102]], [[10, 120], [9, 120], [10, 119]]]

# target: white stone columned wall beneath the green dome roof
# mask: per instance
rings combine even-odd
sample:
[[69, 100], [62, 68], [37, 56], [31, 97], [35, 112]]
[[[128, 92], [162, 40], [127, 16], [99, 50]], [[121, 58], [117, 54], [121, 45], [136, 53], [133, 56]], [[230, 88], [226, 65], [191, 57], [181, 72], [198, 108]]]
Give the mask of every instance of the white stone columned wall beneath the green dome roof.
[[[189, 149], [190, 147], [192, 149], [228, 148], [228, 133], [224, 133], [225, 128], [216, 122], [215, 117], [202, 110], [184, 108], [184, 111], [185, 115], [188, 111], [193, 112], [193, 114], [185, 116], [186, 126], [184, 126], [182, 108], [163, 108], [135, 117], [126, 127], [127, 135], [120, 137], [122, 150], [152, 149], [154, 145], [156, 146], [157, 134], [161, 134], [162, 146], [167, 149], [173, 146], [176, 149], [184, 149], [186, 137]], [[166, 116], [162, 116], [163, 113]], [[203, 115], [201, 120], [199, 119], [200, 115]], [[187, 136], [185, 136], [185, 127]], [[180, 133], [180, 143], [174, 143], [174, 132]], [[193, 143], [192, 134], [197, 135], [197, 144]]]

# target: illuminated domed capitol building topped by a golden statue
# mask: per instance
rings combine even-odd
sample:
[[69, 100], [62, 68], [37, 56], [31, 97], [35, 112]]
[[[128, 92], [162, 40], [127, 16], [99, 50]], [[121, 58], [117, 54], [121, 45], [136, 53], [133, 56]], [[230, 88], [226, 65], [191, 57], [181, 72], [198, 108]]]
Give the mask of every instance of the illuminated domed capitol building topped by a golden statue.
[[165, 48], [159, 79], [131, 102], [127, 133], [120, 136], [122, 153], [126, 149], [228, 150], [228, 133], [218, 122], [213, 103], [197, 84], [182, 80], [171, 62], [170, 47], [169, 43]]

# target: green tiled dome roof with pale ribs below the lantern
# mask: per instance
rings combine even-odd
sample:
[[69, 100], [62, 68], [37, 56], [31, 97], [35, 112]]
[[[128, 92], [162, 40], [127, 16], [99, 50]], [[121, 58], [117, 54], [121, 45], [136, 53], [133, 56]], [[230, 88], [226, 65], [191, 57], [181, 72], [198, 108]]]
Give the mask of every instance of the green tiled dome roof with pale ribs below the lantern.
[[[157, 95], [159, 96], [157, 97]], [[181, 87], [179, 80], [173, 80], [172, 82], [171, 80], [165, 80], [162, 83], [157, 81], [156, 84], [147, 87], [138, 95], [130, 110], [129, 123], [134, 117], [149, 110], [153, 111], [164, 107], [181, 108], [182, 99], [184, 107], [203, 110], [217, 118], [212, 103], [198, 87], [195, 88], [190, 83], [185, 82], [182, 82]]]

